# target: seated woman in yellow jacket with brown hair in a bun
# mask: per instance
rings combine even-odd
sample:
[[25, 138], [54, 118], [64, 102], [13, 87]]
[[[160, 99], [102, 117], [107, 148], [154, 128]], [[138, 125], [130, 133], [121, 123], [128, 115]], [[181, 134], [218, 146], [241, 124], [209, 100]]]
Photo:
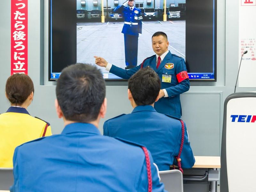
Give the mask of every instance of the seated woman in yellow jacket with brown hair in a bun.
[[11, 107], [0, 115], [0, 167], [12, 168], [12, 156], [17, 146], [52, 135], [52, 132], [49, 123], [30, 116], [27, 111], [34, 95], [34, 84], [29, 76], [19, 73], [10, 76], [5, 95]]

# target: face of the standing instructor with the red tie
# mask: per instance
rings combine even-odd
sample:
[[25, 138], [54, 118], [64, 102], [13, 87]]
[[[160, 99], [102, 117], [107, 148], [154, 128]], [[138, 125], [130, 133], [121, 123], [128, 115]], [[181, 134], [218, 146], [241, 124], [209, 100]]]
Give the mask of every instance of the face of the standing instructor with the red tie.
[[169, 46], [169, 42], [164, 36], [155, 36], [152, 38], [152, 48], [153, 51], [161, 56], [164, 52], [167, 52]]

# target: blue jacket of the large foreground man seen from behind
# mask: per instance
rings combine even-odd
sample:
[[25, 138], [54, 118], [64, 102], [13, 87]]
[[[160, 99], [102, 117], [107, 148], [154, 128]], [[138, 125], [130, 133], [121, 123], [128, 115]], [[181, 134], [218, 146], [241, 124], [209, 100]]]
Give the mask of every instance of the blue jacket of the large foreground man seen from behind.
[[[164, 191], [149, 156], [153, 191]], [[59, 135], [17, 147], [13, 165], [11, 191], [148, 191], [142, 148], [102, 136], [92, 124], [68, 124]]]

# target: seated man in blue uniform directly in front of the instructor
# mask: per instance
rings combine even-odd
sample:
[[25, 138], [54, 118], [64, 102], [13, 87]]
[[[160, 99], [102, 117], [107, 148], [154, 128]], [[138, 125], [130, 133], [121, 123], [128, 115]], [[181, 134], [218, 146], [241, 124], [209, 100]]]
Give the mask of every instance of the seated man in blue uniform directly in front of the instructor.
[[[159, 171], [170, 170], [170, 165], [177, 164], [177, 159], [181, 159], [182, 168], [191, 168], [195, 159], [186, 125], [182, 130], [180, 119], [157, 113], [153, 107], [159, 99], [160, 87], [159, 77], [153, 69], [147, 67], [135, 73], [128, 81], [128, 99], [133, 111], [106, 121], [104, 135], [145, 145]], [[184, 143], [180, 147], [182, 131]]]

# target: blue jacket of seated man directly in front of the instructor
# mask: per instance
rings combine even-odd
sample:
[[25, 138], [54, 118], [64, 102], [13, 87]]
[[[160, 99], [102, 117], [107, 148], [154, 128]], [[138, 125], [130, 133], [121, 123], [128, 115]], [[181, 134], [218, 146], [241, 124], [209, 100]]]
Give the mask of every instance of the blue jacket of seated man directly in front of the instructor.
[[[176, 164], [181, 144], [181, 123], [178, 119], [157, 113], [150, 106], [137, 106], [131, 114], [123, 114], [107, 120], [103, 126], [104, 135], [120, 137], [140, 143], [148, 148], [159, 171], [169, 170]], [[191, 168], [193, 156], [185, 125], [184, 144], [181, 152], [181, 167]]]

